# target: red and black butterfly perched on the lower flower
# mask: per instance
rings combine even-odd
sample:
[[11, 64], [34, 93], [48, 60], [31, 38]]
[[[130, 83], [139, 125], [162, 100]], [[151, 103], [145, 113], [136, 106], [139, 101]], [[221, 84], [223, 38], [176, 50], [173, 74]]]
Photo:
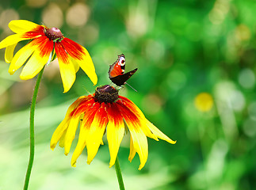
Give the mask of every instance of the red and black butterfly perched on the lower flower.
[[128, 73], [124, 74], [125, 68], [125, 57], [124, 54], [118, 55], [118, 59], [113, 65], [109, 66], [109, 78], [110, 80], [115, 83], [117, 86], [122, 86], [127, 84], [126, 81], [132, 77], [132, 74], [135, 74], [135, 70], [131, 70]]

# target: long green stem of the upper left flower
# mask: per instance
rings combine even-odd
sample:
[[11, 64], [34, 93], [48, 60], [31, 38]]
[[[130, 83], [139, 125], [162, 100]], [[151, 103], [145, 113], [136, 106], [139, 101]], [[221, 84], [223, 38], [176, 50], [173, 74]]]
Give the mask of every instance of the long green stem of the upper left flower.
[[34, 120], [35, 120], [35, 107], [36, 107], [36, 97], [38, 93], [38, 89], [40, 86], [40, 81], [42, 78], [44, 72], [44, 68], [40, 71], [40, 73], [37, 76], [36, 80], [36, 86], [34, 89], [34, 94], [32, 96], [32, 104], [30, 107], [30, 125], [29, 125], [29, 132], [30, 132], [30, 154], [29, 154], [29, 165], [25, 177], [25, 184], [24, 184], [24, 190], [27, 190], [29, 187], [29, 178], [32, 170], [32, 164], [34, 161], [34, 155], [35, 155], [35, 133], [34, 133]]

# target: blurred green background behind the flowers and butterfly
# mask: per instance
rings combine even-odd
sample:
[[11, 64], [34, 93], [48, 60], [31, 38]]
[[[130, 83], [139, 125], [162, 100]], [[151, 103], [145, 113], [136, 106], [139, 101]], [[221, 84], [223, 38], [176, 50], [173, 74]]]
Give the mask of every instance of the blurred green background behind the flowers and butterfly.
[[[256, 186], [255, 9], [254, 0], [1, 0], [0, 40], [12, 34], [8, 23], [13, 19], [59, 27], [90, 52], [97, 86], [110, 83], [109, 64], [121, 53], [126, 70], [138, 67], [128, 81], [138, 93], [125, 86], [120, 95], [177, 144], [148, 139], [148, 160], [139, 171], [138, 155], [128, 161], [125, 135], [118, 155], [127, 189], [246, 190]], [[0, 50], [1, 190], [23, 187], [36, 80], [21, 81], [21, 69], [10, 76], [8, 67]], [[45, 69], [30, 189], [118, 189], [105, 138], [94, 161], [87, 165], [84, 151], [76, 168], [71, 154], [49, 147], [68, 106], [94, 89], [80, 69], [74, 86], [63, 93], [58, 64]], [[214, 101], [208, 112], [194, 105], [202, 92]]]

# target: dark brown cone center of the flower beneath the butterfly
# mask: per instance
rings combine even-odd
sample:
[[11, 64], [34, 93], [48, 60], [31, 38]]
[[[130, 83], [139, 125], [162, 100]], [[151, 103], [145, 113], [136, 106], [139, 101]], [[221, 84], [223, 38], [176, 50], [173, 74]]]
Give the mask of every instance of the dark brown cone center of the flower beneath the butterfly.
[[118, 99], [118, 90], [109, 85], [97, 87], [95, 98], [99, 102], [112, 103]]

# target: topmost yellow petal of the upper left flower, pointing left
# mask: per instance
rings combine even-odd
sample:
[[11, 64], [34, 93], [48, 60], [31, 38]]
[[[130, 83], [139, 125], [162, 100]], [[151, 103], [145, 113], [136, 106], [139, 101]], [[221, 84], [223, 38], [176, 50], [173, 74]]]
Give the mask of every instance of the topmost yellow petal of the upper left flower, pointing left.
[[15, 33], [24, 33], [32, 31], [33, 28], [36, 28], [38, 25], [31, 21], [25, 20], [13, 20], [9, 23], [9, 28]]

